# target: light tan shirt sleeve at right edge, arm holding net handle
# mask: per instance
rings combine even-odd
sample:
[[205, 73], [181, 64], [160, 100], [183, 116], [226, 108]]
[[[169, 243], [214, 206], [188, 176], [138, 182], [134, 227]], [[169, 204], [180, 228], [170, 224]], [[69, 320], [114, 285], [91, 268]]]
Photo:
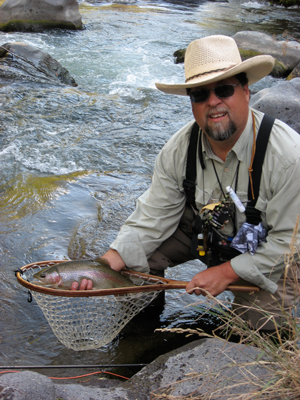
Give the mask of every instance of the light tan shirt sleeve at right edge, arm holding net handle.
[[[286, 256], [293, 254], [290, 244], [300, 214], [300, 139], [277, 121], [268, 146], [256, 205], [268, 231], [266, 242], [254, 255], [247, 252], [233, 258], [231, 265], [241, 278], [274, 293]], [[297, 251], [294, 257], [298, 259]]]

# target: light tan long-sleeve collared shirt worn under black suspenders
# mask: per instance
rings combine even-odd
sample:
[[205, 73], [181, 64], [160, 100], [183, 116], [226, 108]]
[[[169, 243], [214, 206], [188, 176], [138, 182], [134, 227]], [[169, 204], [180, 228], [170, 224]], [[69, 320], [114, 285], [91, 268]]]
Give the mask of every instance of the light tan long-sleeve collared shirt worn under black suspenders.
[[[199, 210], [211, 199], [222, 198], [212, 160], [224, 192], [227, 186], [234, 186], [240, 161], [236, 193], [246, 204], [253, 144], [251, 112], [254, 113], [255, 130], [258, 132], [263, 114], [249, 109], [246, 128], [227, 154], [225, 162], [215, 156], [202, 135], [205, 170], [197, 160], [196, 205]], [[162, 148], [155, 162], [150, 188], [138, 199], [136, 210], [111, 244], [129, 268], [149, 272], [147, 260], [179, 224], [186, 202], [183, 180], [194, 122], [180, 129]], [[231, 260], [237, 275], [272, 293], [277, 289], [276, 282], [285, 265], [284, 254], [289, 252], [296, 217], [300, 214], [299, 179], [300, 136], [285, 123], [276, 120], [266, 151], [256, 203], [267, 230], [267, 241], [259, 244], [254, 255], [246, 252]], [[236, 228], [239, 229], [244, 222], [245, 214], [237, 211]], [[232, 226], [226, 229], [230, 235]]]

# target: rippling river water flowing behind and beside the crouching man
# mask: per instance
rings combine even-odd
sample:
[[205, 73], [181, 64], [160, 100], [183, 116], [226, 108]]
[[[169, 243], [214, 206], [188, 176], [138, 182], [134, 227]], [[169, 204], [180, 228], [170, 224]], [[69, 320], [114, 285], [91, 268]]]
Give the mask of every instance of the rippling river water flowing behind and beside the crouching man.
[[[300, 38], [299, 10], [266, 2], [90, 1], [80, 13], [82, 31], [0, 33], [0, 45], [49, 53], [78, 84], [0, 81], [0, 366], [143, 363], [178, 346], [153, 330], [193, 325], [197, 310], [184, 306], [196, 297], [169, 291], [151, 329], [141, 316], [109, 345], [78, 353], [57, 341], [14, 270], [108, 248], [148, 187], [158, 151], [192, 118], [187, 98], [155, 89], [156, 81], [182, 81], [175, 50], [241, 30]], [[252, 90], [274, 83], [267, 77]], [[169, 276], [189, 280], [198, 268]], [[212, 317], [202, 320], [210, 325]]]

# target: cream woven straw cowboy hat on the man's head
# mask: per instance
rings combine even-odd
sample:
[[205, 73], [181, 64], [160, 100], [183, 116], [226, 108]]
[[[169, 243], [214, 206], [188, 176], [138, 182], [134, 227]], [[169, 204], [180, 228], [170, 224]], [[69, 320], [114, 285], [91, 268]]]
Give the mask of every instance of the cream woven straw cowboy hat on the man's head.
[[186, 96], [187, 88], [229, 78], [246, 72], [249, 85], [268, 75], [274, 66], [272, 56], [262, 55], [242, 61], [234, 39], [229, 36], [214, 35], [191, 42], [184, 59], [185, 83], [156, 83], [165, 93]]

